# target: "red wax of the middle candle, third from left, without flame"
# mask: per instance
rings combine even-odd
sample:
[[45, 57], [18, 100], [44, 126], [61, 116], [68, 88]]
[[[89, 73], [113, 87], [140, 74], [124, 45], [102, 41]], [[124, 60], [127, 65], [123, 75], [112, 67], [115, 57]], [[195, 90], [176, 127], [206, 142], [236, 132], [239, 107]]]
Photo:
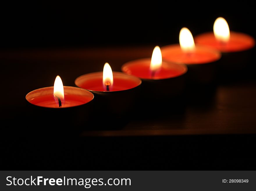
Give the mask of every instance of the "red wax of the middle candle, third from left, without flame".
[[151, 58], [144, 58], [139, 60], [133, 60], [122, 65], [122, 71], [138, 76], [142, 79], [166, 79], [181, 76], [187, 72], [185, 65], [177, 65], [173, 63], [163, 62], [160, 69], [158, 69], [154, 76], [150, 70]]

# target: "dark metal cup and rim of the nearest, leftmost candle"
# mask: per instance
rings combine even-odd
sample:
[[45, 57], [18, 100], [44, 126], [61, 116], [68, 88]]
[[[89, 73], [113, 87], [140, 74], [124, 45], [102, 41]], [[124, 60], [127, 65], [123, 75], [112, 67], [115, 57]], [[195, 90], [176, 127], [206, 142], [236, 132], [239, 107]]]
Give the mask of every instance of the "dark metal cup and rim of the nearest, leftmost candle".
[[[53, 92], [53, 87], [41, 88], [46, 91], [40, 91], [39, 94], [49, 94]], [[40, 89], [38, 89], [40, 90]], [[57, 107], [48, 108], [31, 104], [29, 100], [37, 94], [34, 90], [26, 95], [27, 107], [29, 108], [26, 113], [27, 118], [34, 128], [31, 131], [35, 132], [38, 136], [69, 136], [79, 135], [81, 129], [86, 128], [86, 123], [92, 117], [93, 99], [94, 95], [91, 92], [81, 88], [64, 86], [65, 94], [84, 93], [91, 98], [88, 103], [74, 106], [74, 107]]]

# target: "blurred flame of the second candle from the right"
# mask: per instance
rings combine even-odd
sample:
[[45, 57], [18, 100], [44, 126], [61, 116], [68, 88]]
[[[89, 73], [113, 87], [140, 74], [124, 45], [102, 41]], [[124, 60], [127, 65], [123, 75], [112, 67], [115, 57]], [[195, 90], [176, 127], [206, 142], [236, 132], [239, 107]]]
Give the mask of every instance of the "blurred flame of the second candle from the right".
[[186, 53], [190, 53], [195, 50], [195, 42], [193, 36], [189, 29], [186, 27], [183, 27], [179, 32], [179, 44], [181, 49]]

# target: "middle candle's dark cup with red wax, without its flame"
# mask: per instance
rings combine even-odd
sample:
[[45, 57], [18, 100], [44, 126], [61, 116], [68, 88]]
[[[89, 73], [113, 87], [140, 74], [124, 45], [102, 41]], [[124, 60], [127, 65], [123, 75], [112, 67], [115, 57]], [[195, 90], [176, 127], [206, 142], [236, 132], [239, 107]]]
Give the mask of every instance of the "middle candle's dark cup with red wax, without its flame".
[[157, 113], [160, 114], [162, 109], [158, 109], [163, 108], [163, 104], [166, 107], [170, 106], [168, 111], [184, 108], [184, 102], [179, 100], [182, 99], [186, 84], [186, 65], [162, 62], [161, 68], [152, 76], [150, 63], [151, 58], [144, 58], [127, 62], [121, 68], [123, 72], [142, 79], [140, 110], [156, 114], [157, 109]]

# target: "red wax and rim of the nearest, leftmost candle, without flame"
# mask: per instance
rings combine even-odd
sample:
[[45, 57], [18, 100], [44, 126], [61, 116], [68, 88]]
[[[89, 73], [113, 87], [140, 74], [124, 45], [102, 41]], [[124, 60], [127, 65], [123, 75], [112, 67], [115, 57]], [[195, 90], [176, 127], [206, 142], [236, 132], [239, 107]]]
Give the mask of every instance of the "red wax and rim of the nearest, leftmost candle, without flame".
[[36, 105], [47, 108], [67, 108], [80, 106], [93, 99], [93, 94], [81, 88], [64, 86], [64, 101], [62, 106], [54, 99], [53, 87], [46, 87], [34, 90], [26, 95], [26, 99]]

